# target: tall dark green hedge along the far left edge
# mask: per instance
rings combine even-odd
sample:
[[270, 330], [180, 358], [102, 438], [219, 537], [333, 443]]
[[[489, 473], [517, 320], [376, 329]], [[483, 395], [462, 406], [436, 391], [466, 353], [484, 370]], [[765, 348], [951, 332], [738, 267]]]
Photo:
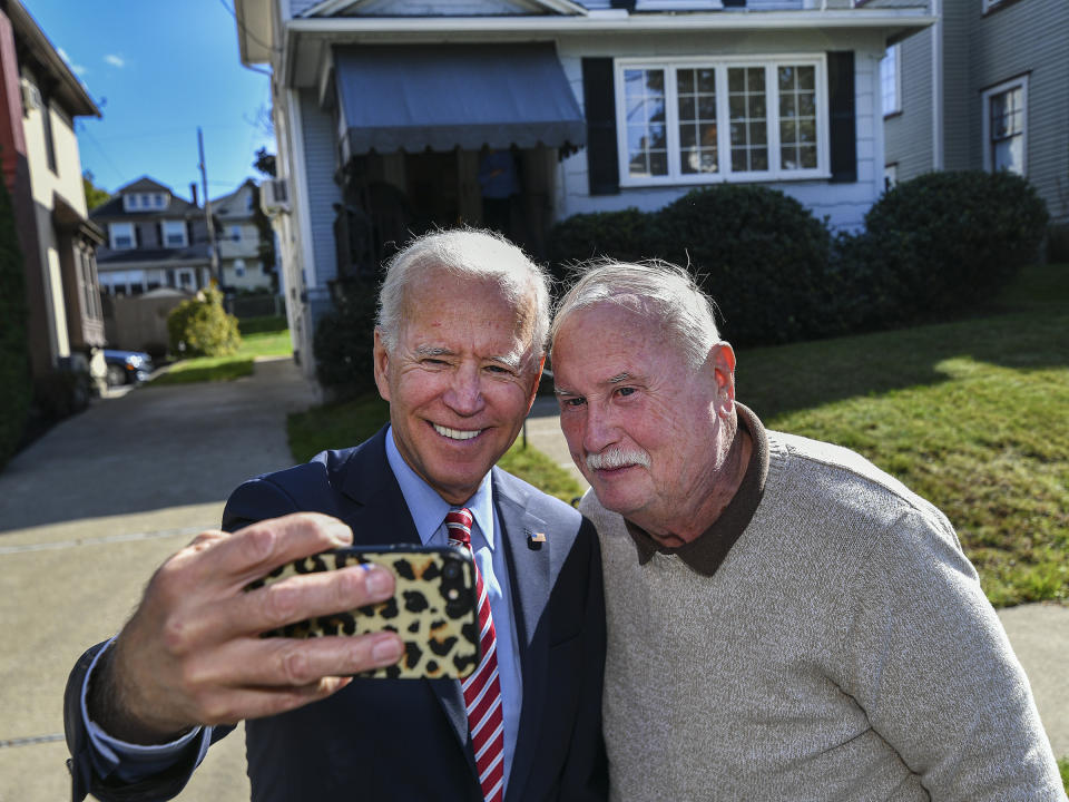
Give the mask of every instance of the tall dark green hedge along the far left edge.
[[0, 179], [0, 467], [22, 439], [32, 393], [23, 270], [11, 197]]

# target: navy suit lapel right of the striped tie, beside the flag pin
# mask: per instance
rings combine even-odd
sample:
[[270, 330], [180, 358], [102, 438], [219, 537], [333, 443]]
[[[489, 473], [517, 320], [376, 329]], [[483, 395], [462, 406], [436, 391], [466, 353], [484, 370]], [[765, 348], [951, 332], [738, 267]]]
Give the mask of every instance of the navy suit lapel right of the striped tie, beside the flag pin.
[[540, 544], [538, 549], [529, 548], [529, 537], [545, 530], [542, 520], [527, 510], [526, 495], [513, 492], [510, 482], [500, 481], [501, 473], [497, 468], [493, 469], [493, 478], [498, 518], [504, 530], [501, 541], [512, 586], [512, 618], [523, 677], [520, 727], [507, 792], [507, 799], [511, 800], [522, 795], [527, 777], [534, 766], [542, 710], [549, 697], [549, 677], [546, 676], [549, 636], [545, 627], [539, 627], [539, 622], [549, 602], [552, 538]]

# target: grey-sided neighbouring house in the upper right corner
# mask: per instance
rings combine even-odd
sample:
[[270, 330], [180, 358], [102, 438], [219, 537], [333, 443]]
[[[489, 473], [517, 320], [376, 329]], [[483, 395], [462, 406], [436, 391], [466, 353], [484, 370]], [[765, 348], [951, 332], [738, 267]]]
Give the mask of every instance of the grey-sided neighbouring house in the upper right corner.
[[1069, 223], [1069, 2], [931, 2], [939, 21], [884, 62], [889, 179], [1009, 169]]

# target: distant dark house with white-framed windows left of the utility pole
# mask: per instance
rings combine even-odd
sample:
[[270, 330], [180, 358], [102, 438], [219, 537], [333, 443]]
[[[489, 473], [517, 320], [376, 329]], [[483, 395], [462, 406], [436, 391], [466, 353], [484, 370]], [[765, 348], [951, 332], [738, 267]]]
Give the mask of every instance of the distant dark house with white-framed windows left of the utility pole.
[[89, 213], [106, 232], [97, 252], [100, 287], [139, 295], [157, 287], [195, 292], [212, 280], [212, 247], [197, 187], [193, 203], [145, 176], [116, 190]]

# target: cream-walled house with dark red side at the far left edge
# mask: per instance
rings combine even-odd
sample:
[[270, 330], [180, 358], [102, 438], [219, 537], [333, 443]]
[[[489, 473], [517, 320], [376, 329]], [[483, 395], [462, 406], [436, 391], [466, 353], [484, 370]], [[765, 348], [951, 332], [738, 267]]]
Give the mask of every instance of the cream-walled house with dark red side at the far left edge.
[[99, 116], [22, 3], [0, 3], [0, 164], [26, 261], [36, 378], [85, 369], [105, 344], [95, 257], [101, 233], [86, 216], [75, 136], [77, 117]]

